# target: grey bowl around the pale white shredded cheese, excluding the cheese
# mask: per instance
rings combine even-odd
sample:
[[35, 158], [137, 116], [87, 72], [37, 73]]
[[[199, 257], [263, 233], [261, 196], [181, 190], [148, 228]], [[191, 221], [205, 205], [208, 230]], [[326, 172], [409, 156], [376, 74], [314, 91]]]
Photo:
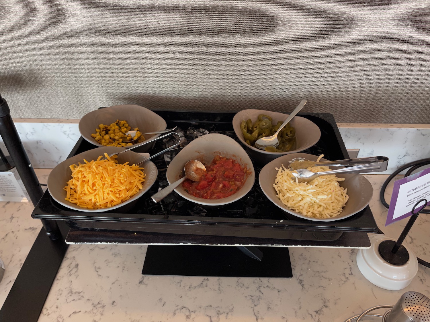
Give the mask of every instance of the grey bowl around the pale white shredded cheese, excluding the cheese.
[[[266, 197], [273, 202], [277, 207], [283, 210], [286, 213], [287, 218], [289, 219], [306, 219], [312, 220], [316, 222], [333, 222], [336, 220], [346, 219], [350, 216], [355, 215], [359, 211], [363, 210], [372, 199], [373, 188], [372, 184], [361, 174], [337, 174], [339, 178], [345, 178], [344, 181], [339, 181], [339, 184], [347, 188], [347, 194], [349, 199], [342, 210], [342, 213], [338, 216], [332, 218], [310, 218], [302, 215], [301, 213], [295, 212], [294, 210], [289, 209], [286, 205], [284, 205], [278, 197], [276, 197], [276, 190], [273, 188], [273, 183], [276, 179], [276, 174], [278, 171], [275, 168], [279, 168], [282, 164], [288, 168], [289, 162], [293, 158], [306, 158], [310, 161], [316, 161], [318, 156], [311, 155], [307, 153], [294, 153], [283, 155], [275, 160], [266, 164], [260, 171], [260, 176], [258, 177], [258, 181], [260, 183], [261, 190], [266, 195]], [[321, 159], [321, 161], [328, 161], [327, 159]], [[333, 170], [336, 167], [333, 168]]]

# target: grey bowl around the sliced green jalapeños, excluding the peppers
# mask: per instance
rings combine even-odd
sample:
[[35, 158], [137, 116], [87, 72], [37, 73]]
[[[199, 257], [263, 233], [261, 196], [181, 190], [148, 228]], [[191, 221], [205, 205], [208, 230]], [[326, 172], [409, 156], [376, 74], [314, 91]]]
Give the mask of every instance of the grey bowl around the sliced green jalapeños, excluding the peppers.
[[260, 164], [267, 164], [275, 158], [279, 158], [282, 155], [297, 153], [304, 151], [311, 146], [315, 145], [321, 137], [321, 131], [318, 126], [308, 120], [307, 118], [301, 116], [295, 116], [290, 124], [296, 130], [295, 137], [297, 138], [297, 146], [294, 150], [288, 152], [267, 152], [264, 150], [260, 150], [253, 146], [250, 146], [245, 143], [243, 139], [242, 131], [240, 130], [240, 122], [242, 120], [251, 119], [252, 123], [254, 123], [258, 119], [258, 115], [265, 114], [272, 118], [272, 124], [276, 124], [278, 121], [284, 122], [289, 114], [283, 114], [278, 112], [270, 112], [262, 109], [244, 109], [243, 111], [237, 112], [233, 117], [233, 129], [234, 133], [236, 133], [240, 142], [245, 146], [248, 154]]

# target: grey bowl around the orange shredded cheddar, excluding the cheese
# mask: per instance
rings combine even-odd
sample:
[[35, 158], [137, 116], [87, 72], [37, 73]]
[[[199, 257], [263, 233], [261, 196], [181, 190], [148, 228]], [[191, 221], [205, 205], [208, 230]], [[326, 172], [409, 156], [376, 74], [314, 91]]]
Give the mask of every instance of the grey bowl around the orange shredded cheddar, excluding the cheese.
[[[72, 164], [78, 164], [78, 162], [83, 163], [83, 159], [86, 159], [87, 161], [96, 160], [98, 156], [103, 155], [104, 153], [111, 154], [114, 152], [120, 152], [124, 151], [125, 149], [115, 147], [115, 146], [104, 146], [101, 148], [95, 148], [92, 150], [88, 150], [85, 152], [82, 152], [80, 154], [74, 155], [71, 158], [68, 158], [67, 160], [61, 162], [58, 164], [54, 169], [52, 169], [51, 173], [49, 173], [48, 177], [48, 190], [49, 194], [51, 194], [52, 198], [54, 198], [55, 201], [58, 202], [58, 204], [63, 205], [64, 207], [77, 210], [77, 211], [85, 211], [88, 213], [102, 213], [105, 211], [111, 211], [111, 210], [119, 210], [121, 208], [124, 210], [124, 207], [130, 207], [132, 206], [135, 201], [138, 200], [139, 197], [141, 197], [146, 191], [148, 191], [149, 188], [154, 184], [155, 180], [157, 179], [158, 170], [154, 163], [150, 161], [145, 162], [141, 167], [144, 168], [144, 174], [146, 175], [145, 181], [143, 182], [143, 187], [140, 191], [138, 191], [137, 194], [132, 196], [129, 200], [124, 201], [121, 204], [118, 204], [113, 207], [109, 208], [102, 208], [102, 209], [86, 209], [79, 207], [76, 204], [72, 204], [64, 198], [66, 197], [66, 191], [64, 190], [64, 187], [67, 185], [67, 182], [71, 179], [72, 170], [70, 170], [70, 166]], [[133, 152], [133, 151], [127, 151], [124, 153], [121, 153], [118, 155], [117, 158], [119, 163], [125, 163], [129, 161], [130, 164], [133, 163], [139, 163], [143, 160], [145, 160], [145, 157]]]

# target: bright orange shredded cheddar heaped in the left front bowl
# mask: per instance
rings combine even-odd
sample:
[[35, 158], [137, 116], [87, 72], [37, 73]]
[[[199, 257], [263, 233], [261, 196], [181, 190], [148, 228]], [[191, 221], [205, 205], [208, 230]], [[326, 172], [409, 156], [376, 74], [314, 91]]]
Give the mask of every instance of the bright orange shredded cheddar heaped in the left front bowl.
[[129, 200], [145, 181], [143, 169], [137, 165], [118, 164], [116, 155], [96, 161], [72, 164], [72, 179], [67, 182], [65, 200], [87, 209], [108, 208]]

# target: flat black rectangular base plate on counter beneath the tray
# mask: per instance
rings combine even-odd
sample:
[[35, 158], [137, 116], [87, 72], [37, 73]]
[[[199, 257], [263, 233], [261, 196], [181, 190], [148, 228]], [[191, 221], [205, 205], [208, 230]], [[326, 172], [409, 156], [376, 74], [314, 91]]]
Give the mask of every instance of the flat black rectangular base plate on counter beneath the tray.
[[292, 277], [288, 247], [258, 247], [261, 261], [235, 246], [148, 245], [143, 275]]

